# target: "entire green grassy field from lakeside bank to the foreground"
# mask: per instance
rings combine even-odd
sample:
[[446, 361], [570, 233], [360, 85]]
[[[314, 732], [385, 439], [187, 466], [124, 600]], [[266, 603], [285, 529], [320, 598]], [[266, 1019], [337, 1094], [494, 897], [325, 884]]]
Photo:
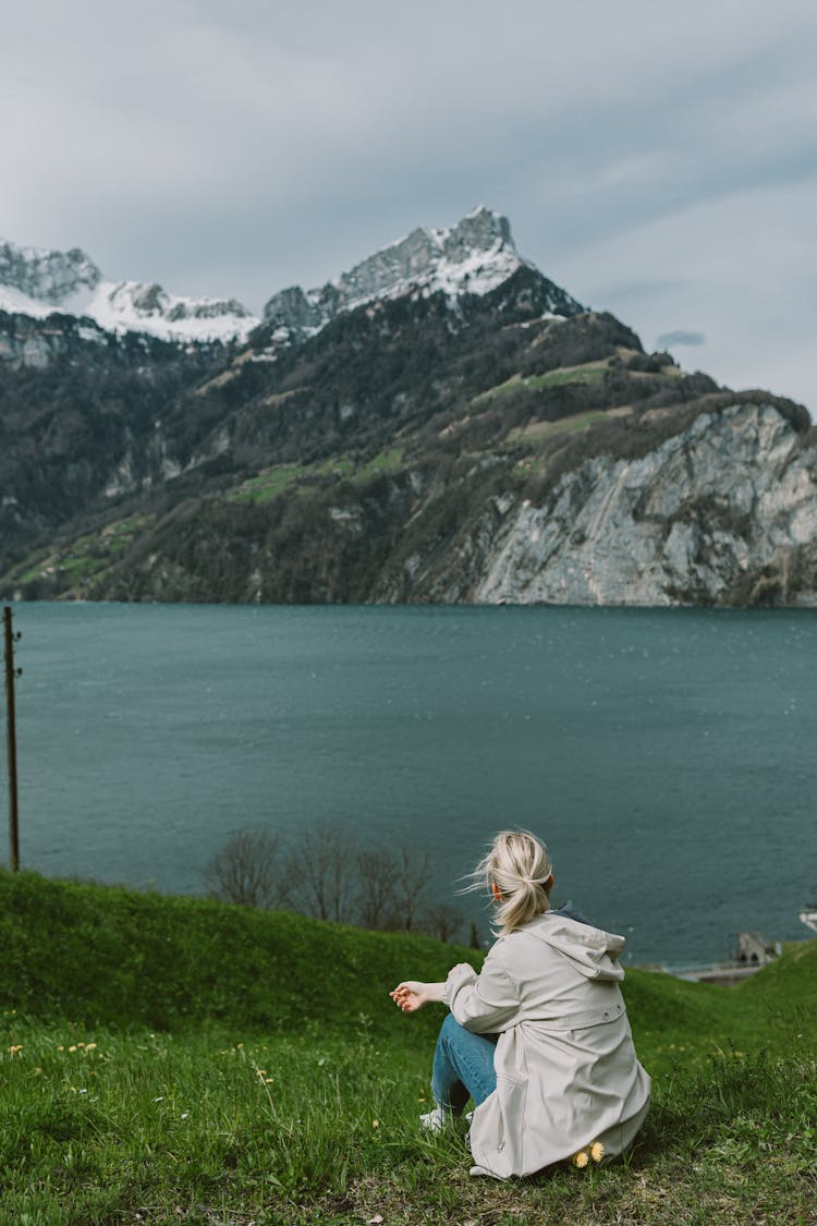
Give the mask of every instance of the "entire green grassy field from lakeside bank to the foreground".
[[626, 1162], [468, 1175], [418, 1130], [474, 951], [0, 873], [0, 1224], [815, 1222], [817, 943], [736, 988], [630, 971], [654, 1107]]

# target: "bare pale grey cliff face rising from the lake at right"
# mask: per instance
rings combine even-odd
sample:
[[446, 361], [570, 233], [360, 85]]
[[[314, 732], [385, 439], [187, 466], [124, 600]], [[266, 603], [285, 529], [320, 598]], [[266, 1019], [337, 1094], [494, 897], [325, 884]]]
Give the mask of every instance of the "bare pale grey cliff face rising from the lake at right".
[[706, 413], [639, 460], [599, 456], [544, 506], [517, 504], [470, 598], [488, 604], [717, 603], [817, 543], [817, 451], [777, 409]]

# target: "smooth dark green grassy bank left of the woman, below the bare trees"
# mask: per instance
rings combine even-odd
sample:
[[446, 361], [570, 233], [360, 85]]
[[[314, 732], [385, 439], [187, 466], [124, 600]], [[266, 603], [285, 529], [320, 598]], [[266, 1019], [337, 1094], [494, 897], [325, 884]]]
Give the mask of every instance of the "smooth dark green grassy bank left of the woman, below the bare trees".
[[202, 1022], [343, 1032], [393, 1029], [388, 988], [473, 956], [426, 937], [365, 932], [206, 899], [0, 873], [0, 1007], [86, 1025]]

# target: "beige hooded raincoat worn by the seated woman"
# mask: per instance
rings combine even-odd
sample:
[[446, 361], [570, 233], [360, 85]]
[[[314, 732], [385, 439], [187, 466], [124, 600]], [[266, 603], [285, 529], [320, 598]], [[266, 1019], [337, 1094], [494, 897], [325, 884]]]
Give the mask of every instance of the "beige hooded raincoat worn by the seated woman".
[[475, 1034], [497, 1034], [496, 1090], [474, 1112], [486, 1172], [532, 1175], [594, 1141], [621, 1154], [649, 1107], [619, 987], [623, 937], [545, 912], [490, 949], [480, 975], [454, 967], [445, 1003]]

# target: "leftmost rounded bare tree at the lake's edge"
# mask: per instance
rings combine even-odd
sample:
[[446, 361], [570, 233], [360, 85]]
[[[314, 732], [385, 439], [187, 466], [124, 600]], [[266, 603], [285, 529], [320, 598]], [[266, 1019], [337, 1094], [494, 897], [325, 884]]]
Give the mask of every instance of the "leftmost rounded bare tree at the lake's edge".
[[205, 869], [209, 895], [246, 907], [280, 907], [289, 894], [280, 835], [244, 829], [227, 840]]

